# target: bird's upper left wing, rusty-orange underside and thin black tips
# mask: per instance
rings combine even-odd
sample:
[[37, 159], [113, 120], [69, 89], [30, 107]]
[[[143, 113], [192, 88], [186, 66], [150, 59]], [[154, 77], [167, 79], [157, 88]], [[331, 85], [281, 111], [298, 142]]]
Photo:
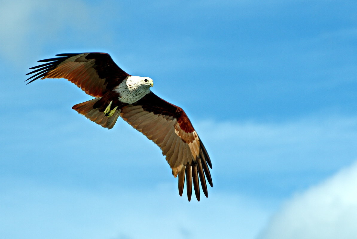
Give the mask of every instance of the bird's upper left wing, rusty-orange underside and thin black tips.
[[40, 60], [47, 63], [31, 67], [36, 70], [26, 74], [35, 73], [29, 78], [33, 78], [29, 83], [38, 78], [66, 78], [87, 94], [101, 97], [130, 76], [107, 53], [67, 53], [56, 56], [59, 57]]

